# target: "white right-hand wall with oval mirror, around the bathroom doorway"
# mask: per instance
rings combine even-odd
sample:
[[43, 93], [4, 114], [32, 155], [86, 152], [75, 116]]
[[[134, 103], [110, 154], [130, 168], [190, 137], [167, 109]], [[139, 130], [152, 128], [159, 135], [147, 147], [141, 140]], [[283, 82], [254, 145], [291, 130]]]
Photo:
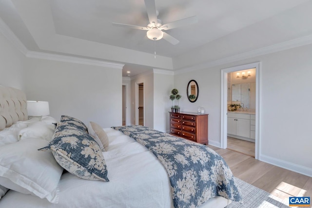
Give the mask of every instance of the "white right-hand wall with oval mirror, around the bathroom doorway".
[[[175, 87], [186, 88], [191, 79], [199, 86], [195, 103], [181, 94], [181, 110], [209, 113], [208, 138], [220, 144], [220, 70], [261, 61], [260, 160], [312, 175], [312, 45], [249, 58], [218, 67], [175, 75]], [[183, 92], [183, 91], [181, 91]]]

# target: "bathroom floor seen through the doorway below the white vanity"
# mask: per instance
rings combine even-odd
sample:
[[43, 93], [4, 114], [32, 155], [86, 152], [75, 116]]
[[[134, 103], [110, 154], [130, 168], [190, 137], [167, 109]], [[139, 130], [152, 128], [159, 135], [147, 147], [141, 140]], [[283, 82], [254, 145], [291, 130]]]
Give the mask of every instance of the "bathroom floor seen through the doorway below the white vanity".
[[236, 139], [236, 138], [228, 136], [228, 148], [227, 149], [238, 151], [238, 152], [254, 157], [254, 142], [245, 141], [242, 139]]

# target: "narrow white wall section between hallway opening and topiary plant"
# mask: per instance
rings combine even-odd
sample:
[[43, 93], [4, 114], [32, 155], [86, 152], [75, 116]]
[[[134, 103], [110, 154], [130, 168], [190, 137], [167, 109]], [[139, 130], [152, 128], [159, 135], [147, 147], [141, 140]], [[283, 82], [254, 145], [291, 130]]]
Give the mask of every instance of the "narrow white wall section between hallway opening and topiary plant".
[[154, 129], [169, 132], [169, 111], [172, 101], [169, 99], [174, 88], [174, 76], [154, 73]]

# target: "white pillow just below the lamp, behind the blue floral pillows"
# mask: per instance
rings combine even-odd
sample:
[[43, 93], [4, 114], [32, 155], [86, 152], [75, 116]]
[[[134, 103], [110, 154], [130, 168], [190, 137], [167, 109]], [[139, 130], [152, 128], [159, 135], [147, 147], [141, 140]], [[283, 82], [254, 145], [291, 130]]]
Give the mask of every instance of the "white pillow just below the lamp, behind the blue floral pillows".
[[28, 138], [38, 138], [50, 141], [55, 132], [54, 124], [46, 124], [43, 121], [37, 121], [28, 125], [27, 128], [20, 130], [19, 140]]

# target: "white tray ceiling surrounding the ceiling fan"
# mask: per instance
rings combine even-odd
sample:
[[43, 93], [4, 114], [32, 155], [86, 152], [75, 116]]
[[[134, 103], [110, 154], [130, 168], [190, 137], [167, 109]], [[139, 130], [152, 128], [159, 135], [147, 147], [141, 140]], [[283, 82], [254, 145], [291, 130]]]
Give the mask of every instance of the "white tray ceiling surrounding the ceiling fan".
[[180, 42], [157, 40], [156, 59], [146, 31], [112, 25], [146, 26], [144, 0], [0, 0], [0, 18], [29, 51], [124, 63], [131, 76], [183, 68], [181, 59], [203, 62], [199, 53], [224, 47], [226, 40], [243, 41], [240, 48], [229, 44], [228, 53], [235, 54], [312, 34], [311, 0], [155, 1], [163, 23], [198, 17], [198, 23], [167, 30]]

